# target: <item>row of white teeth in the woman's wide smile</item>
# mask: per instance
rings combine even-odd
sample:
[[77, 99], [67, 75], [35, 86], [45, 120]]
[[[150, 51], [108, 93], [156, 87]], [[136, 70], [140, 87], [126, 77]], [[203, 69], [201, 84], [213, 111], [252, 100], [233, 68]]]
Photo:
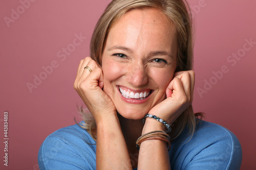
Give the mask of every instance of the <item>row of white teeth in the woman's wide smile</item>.
[[136, 99], [136, 100], [143, 100], [146, 99], [148, 95], [150, 95], [151, 90], [144, 90], [135, 92], [130, 89], [119, 87], [119, 91], [122, 94], [122, 96], [126, 99]]

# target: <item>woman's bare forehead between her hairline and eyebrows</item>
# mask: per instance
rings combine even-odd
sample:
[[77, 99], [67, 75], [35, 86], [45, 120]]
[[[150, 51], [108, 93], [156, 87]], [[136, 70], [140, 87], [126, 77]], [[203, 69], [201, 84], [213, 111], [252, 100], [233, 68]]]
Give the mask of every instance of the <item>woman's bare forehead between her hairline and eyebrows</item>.
[[173, 22], [158, 9], [133, 9], [116, 21], [106, 43], [172, 51], [176, 47], [176, 30]]

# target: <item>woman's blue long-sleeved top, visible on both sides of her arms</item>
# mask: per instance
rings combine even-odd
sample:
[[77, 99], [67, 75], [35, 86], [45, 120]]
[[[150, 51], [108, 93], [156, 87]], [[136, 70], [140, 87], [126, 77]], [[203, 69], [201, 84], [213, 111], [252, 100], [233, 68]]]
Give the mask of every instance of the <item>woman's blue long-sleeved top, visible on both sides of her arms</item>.
[[[241, 166], [242, 150], [232, 132], [202, 121], [192, 137], [185, 128], [172, 141], [169, 158], [171, 168], [175, 170], [236, 170]], [[78, 125], [59, 129], [42, 143], [38, 164], [40, 170], [96, 169], [95, 140]]]

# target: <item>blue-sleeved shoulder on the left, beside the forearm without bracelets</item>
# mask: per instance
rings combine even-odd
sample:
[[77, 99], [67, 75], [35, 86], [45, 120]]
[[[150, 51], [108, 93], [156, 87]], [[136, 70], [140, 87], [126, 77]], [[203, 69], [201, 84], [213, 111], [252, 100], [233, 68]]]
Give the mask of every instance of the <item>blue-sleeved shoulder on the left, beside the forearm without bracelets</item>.
[[78, 125], [61, 128], [41, 144], [40, 169], [95, 169], [96, 144], [91, 135]]

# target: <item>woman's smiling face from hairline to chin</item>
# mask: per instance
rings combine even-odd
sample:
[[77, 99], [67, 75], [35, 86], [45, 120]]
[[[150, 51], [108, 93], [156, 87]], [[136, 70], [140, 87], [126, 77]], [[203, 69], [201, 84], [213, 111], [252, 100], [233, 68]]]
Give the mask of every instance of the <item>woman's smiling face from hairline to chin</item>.
[[123, 117], [141, 119], [166, 99], [176, 57], [172, 22], [157, 9], [131, 10], [117, 21], [106, 39], [103, 90]]

